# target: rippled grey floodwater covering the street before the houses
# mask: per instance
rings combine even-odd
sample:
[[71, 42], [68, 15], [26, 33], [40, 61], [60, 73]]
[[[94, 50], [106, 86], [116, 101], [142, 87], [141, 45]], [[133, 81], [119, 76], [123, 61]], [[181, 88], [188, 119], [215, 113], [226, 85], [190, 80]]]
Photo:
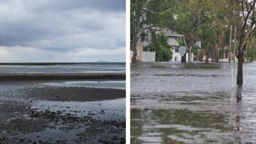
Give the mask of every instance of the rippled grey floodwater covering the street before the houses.
[[256, 63], [131, 65], [131, 143], [256, 143]]

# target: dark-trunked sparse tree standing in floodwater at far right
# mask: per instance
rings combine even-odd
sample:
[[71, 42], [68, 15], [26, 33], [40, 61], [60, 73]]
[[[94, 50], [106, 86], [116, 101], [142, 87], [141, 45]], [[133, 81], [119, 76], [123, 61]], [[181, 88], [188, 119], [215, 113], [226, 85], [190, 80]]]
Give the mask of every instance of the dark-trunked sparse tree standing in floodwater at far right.
[[255, 13], [255, 3], [256, 0], [248, 1], [241, 0], [239, 1], [241, 6], [241, 15], [243, 15], [243, 26], [241, 28], [239, 36], [239, 44], [237, 47], [237, 84], [243, 84], [243, 61], [244, 61], [244, 52], [246, 51], [246, 44], [249, 42], [252, 37], [253, 31], [255, 31], [256, 23], [256, 13]]

